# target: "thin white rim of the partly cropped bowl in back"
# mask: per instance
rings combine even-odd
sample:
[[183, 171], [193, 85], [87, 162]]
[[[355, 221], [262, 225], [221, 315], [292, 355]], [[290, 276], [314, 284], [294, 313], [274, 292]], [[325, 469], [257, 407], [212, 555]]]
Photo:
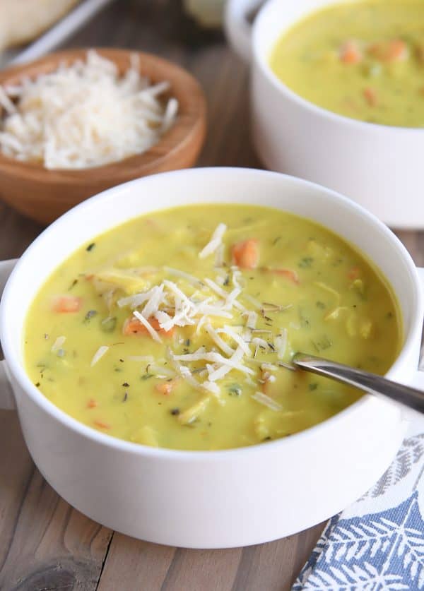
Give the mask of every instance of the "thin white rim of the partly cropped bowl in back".
[[[329, 4], [326, 7], [331, 6], [339, 6], [340, 2], [336, 0], [330, 0]], [[424, 134], [424, 126], [423, 127], [405, 127], [405, 126], [395, 126], [395, 125], [387, 125], [381, 123], [374, 123], [372, 121], [363, 121], [362, 119], [353, 119], [352, 117], [347, 117], [346, 115], [342, 115], [336, 113], [334, 111], [330, 111], [329, 109], [325, 109], [324, 107], [320, 107], [316, 105], [314, 102], [305, 99], [297, 92], [292, 90], [288, 85], [286, 85], [283, 80], [278, 78], [276, 73], [273, 72], [270, 64], [269, 64], [269, 55], [266, 52], [259, 48], [259, 35], [262, 33], [262, 28], [265, 26], [265, 20], [268, 17], [268, 13], [272, 10], [276, 10], [278, 6], [282, 5], [282, 0], [267, 0], [263, 6], [259, 9], [257, 13], [257, 17], [254, 19], [254, 23], [252, 25], [252, 56], [254, 57], [254, 61], [259, 65], [261, 68], [262, 73], [266, 76], [269, 80], [271, 85], [273, 85], [276, 90], [282, 92], [283, 95], [292, 102], [297, 103], [303, 109], [311, 112], [312, 114], [321, 117], [322, 119], [326, 119], [331, 123], [343, 126], [351, 126], [356, 127], [360, 131], [374, 131], [375, 133], [405, 133], [410, 136], [419, 136]], [[318, 13], [321, 10], [324, 10], [325, 7], [321, 8], [313, 8], [311, 11], [307, 12], [307, 16], [313, 15], [314, 13]], [[282, 29], [280, 34], [278, 35], [278, 39], [288, 31], [291, 27], [300, 23], [305, 16], [300, 18], [296, 18], [292, 20], [288, 28]], [[273, 42], [273, 47], [275, 47], [275, 40]]]

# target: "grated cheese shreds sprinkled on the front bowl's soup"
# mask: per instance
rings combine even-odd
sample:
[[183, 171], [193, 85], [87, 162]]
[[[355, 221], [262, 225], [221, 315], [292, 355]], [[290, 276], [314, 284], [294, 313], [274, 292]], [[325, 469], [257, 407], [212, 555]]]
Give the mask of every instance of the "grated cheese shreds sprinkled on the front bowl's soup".
[[[220, 224], [199, 256], [203, 258], [216, 251], [224, 232], [225, 226]], [[218, 400], [220, 400], [219, 382], [230, 371], [237, 371], [245, 376], [250, 385], [252, 385], [252, 376], [257, 380], [259, 378], [259, 383], [261, 380], [263, 383], [264, 379], [270, 382], [275, 381], [276, 378], [271, 372], [278, 371], [283, 364], [279, 361], [277, 365], [259, 362], [256, 359], [257, 352], [261, 349], [265, 354], [275, 353], [278, 360], [283, 359], [288, 350], [287, 330], [280, 328], [278, 333], [274, 334], [271, 330], [256, 328], [257, 312], [248, 310], [238, 299], [245, 296], [244, 289], [240, 285], [240, 270], [237, 267], [231, 268], [232, 286], [229, 290], [220, 287], [216, 281], [208, 277], [200, 280], [177, 269], [165, 267], [165, 270], [177, 277], [178, 285], [177, 282], [163, 279], [159, 285], [151, 289], [118, 299], [117, 305], [119, 308], [129, 308], [134, 318], [145, 326], [153, 340], [157, 342], [163, 342], [163, 339], [160, 332], [153, 328], [149, 321], [151, 318], [155, 318], [165, 332], [172, 330], [175, 326], [195, 326], [196, 334], [204, 330], [211, 340], [211, 348], [203, 345], [194, 352], [176, 354], [167, 347], [167, 359], [175, 371], [174, 375], [180, 376], [198, 390], [206, 390], [216, 395]], [[192, 289], [195, 288], [191, 295], [184, 292], [184, 281]], [[271, 305], [273, 304], [269, 304]], [[274, 307], [278, 309], [280, 306]], [[257, 332], [269, 333], [268, 340], [254, 336]], [[166, 371], [165, 368], [160, 367], [158, 373], [168, 376], [169, 370]], [[199, 379], [202, 377], [203, 381]], [[252, 398], [271, 410], [281, 410], [280, 405], [262, 393], [256, 393]]]

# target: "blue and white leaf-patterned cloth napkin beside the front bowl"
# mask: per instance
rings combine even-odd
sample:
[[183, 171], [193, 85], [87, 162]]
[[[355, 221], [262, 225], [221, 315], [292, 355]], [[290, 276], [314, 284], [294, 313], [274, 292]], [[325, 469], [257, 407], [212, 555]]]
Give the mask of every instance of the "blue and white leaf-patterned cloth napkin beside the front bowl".
[[424, 590], [424, 419], [387, 472], [326, 525], [292, 591]]

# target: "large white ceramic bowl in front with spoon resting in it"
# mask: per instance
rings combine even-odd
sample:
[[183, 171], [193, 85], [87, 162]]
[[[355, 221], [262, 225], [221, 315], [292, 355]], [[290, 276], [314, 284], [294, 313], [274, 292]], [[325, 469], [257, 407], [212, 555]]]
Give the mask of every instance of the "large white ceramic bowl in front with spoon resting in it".
[[[363, 249], [387, 275], [404, 316], [404, 347], [388, 376], [404, 383], [418, 379], [423, 297], [416, 267], [394, 234], [353, 201], [307, 181], [252, 169], [209, 168], [158, 174], [105, 191], [66, 213], [33, 242], [1, 299], [6, 362], [0, 364], [0, 402], [14, 401], [40, 472], [90, 518], [161, 544], [257, 544], [319, 523], [363, 494], [401, 443], [408, 420], [404, 409], [366, 395], [328, 421], [279, 441], [211, 452], [153, 449], [72, 419], [35, 388], [23, 368], [28, 306], [64, 258], [131, 217], [199, 202], [261, 203], [288, 210]], [[5, 275], [11, 264], [3, 265]]]

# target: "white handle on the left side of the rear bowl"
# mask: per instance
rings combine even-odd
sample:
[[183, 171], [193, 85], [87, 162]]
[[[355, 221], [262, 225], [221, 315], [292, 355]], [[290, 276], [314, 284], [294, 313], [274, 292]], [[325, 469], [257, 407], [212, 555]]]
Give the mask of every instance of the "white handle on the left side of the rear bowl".
[[228, 0], [225, 5], [225, 33], [232, 49], [245, 61], [252, 59], [252, 25], [247, 18], [262, 4], [264, 0]]

